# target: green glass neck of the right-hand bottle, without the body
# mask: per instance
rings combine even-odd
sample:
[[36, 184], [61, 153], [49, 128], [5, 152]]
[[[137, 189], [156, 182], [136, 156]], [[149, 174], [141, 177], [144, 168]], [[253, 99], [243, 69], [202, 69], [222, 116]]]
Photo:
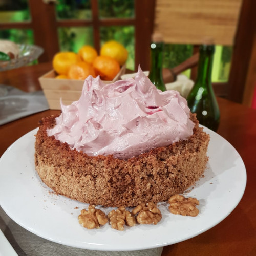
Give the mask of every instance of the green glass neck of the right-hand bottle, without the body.
[[214, 45], [201, 45], [200, 57], [198, 63], [198, 76], [196, 84], [199, 83], [204, 86], [211, 85], [211, 71], [212, 62], [214, 59], [215, 46]]

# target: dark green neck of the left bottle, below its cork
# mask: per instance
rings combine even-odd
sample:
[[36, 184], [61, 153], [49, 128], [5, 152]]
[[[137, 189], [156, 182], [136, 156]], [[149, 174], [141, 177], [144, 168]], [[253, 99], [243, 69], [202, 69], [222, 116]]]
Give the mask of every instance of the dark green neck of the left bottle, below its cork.
[[152, 42], [150, 46], [150, 79], [162, 79], [163, 42]]

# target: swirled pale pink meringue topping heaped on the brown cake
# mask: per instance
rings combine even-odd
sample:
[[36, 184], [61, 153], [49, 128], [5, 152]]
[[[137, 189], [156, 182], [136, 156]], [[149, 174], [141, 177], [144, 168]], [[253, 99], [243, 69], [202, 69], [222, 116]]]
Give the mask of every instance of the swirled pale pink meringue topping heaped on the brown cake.
[[127, 159], [193, 134], [187, 101], [177, 91], [158, 90], [140, 68], [134, 79], [112, 84], [89, 76], [78, 101], [60, 103], [48, 136], [89, 156]]

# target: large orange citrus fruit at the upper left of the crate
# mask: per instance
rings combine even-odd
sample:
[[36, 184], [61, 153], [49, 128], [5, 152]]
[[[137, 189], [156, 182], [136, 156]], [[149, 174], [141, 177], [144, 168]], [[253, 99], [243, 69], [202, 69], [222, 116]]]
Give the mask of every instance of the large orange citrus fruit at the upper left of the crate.
[[53, 69], [60, 75], [67, 75], [69, 67], [76, 63], [79, 57], [74, 52], [59, 52], [53, 57]]

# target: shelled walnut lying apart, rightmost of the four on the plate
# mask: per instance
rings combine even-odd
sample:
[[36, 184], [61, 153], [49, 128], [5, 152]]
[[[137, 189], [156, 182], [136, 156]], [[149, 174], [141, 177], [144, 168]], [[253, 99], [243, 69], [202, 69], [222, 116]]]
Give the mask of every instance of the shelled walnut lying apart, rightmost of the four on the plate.
[[169, 211], [172, 214], [180, 214], [183, 216], [197, 216], [199, 209], [196, 205], [199, 205], [199, 201], [196, 198], [185, 198], [182, 195], [174, 195], [169, 198], [168, 203]]

